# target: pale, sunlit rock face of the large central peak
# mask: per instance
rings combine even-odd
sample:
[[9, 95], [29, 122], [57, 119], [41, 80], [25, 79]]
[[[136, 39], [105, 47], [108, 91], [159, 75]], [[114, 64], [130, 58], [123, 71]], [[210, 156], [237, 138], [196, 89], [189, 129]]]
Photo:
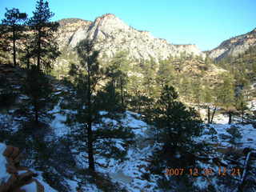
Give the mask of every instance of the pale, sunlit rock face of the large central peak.
[[[66, 21], [66, 22], [63, 22]], [[115, 53], [125, 50], [129, 58], [133, 59], [165, 59], [170, 55], [178, 56], [182, 52], [186, 54], [202, 55], [201, 50], [195, 45], [173, 45], [165, 39], [154, 38], [148, 31], [135, 30], [126, 25], [114, 14], [104, 14], [96, 18], [94, 22], [81, 19], [61, 20], [58, 30], [58, 42], [63, 47], [72, 50], [82, 39], [90, 39], [95, 42], [95, 47], [112, 58]]]

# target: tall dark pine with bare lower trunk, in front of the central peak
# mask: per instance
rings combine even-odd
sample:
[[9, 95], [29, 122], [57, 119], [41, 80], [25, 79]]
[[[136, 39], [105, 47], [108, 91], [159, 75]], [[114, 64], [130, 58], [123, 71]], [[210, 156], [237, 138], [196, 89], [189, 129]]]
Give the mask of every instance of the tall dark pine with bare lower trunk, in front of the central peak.
[[[70, 70], [70, 75], [74, 77], [72, 80], [74, 91], [71, 91], [69, 95], [69, 109], [77, 113], [69, 114], [66, 123], [73, 128], [72, 137], [79, 143], [79, 146], [82, 146], [81, 150], [83, 152], [86, 150], [88, 153], [89, 169], [93, 173], [96, 150], [110, 155], [110, 149], [118, 151], [114, 147], [114, 139], [128, 139], [132, 137], [132, 134], [120, 125], [102, 122], [102, 116], [114, 118], [122, 112], [122, 107], [118, 106], [119, 97], [114, 92], [114, 85], [111, 81], [104, 89], [99, 84], [102, 80], [108, 80], [106, 78], [108, 78], [109, 71], [99, 67], [99, 52], [94, 50], [93, 42], [83, 40], [76, 48], [80, 62], [76, 66], [72, 65]], [[98, 128], [93, 130], [93, 126]], [[106, 147], [107, 145], [111, 147]]]

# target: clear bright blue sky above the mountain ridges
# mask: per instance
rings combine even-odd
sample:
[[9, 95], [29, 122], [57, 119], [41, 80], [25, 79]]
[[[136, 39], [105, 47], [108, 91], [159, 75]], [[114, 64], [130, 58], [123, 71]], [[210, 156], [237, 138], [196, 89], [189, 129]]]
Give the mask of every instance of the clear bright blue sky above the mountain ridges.
[[[35, 0], [0, 0], [5, 8], [18, 8], [30, 16]], [[222, 41], [256, 27], [256, 0], [49, 0], [54, 20], [83, 18], [94, 21], [111, 13], [138, 30], [174, 44], [196, 44], [211, 50]]]

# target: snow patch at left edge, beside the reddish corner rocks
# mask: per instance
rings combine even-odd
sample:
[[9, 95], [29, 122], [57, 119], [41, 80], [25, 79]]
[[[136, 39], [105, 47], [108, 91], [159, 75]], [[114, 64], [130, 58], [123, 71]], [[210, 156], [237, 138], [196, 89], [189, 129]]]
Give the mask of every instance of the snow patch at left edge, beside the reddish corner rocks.
[[6, 158], [3, 156], [4, 151], [6, 150], [6, 145], [3, 143], [0, 143], [0, 184], [3, 182], [7, 182], [10, 178], [10, 174], [6, 171]]

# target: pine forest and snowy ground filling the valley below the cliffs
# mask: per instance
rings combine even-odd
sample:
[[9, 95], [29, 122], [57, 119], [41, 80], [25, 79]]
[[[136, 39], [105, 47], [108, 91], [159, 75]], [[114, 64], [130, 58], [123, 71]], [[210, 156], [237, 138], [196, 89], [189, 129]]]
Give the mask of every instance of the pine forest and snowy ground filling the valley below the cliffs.
[[44, 191], [256, 190], [255, 46], [219, 61], [106, 59], [84, 39], [61, 70], [53, 17], [38, 0], [0, 25], [0, 142]]

